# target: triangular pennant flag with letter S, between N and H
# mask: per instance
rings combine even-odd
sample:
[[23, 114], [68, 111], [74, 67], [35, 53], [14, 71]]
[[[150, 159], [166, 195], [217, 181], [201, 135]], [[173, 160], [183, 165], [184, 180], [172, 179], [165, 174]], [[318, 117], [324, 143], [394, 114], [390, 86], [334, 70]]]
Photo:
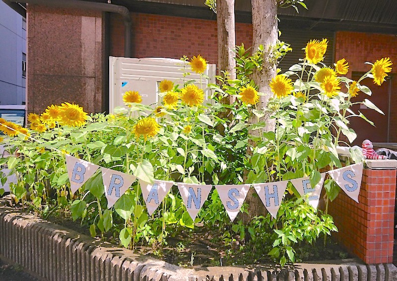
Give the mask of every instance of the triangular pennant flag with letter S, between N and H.
[[215, 188], [230, 220], [233, 221], [239, 214], [241, 206], [243, 206], [244, 200], [250, 190], [250, 185], [215, 185]]

